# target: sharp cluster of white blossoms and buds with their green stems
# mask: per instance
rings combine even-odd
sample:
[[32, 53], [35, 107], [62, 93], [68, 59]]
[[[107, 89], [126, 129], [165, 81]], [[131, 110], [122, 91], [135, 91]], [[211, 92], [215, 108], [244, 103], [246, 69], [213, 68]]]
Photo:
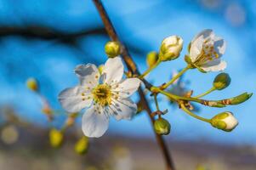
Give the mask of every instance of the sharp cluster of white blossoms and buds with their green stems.
[[[157, 103], [157, 95], [162, 94], [172, 99], [179, 108], [203, 122], [210, 123], [213, 127], [230, 132], [238, 124], [236, 118], [229, 111], [222, 112], [211, 119], [197, 116], [193, 112], [191, 102], [196, 102], [210, 107], [225, 107], [226, 105], [238, 105], [246, 101], [252, 94], [241, 94], [230, 99], [205, 100], [203, 96], [215, 90], [222, 90], [230, 85], [230, 77], [226, 73], [220, 73], [213, 81], [213, 87], [207, 92], [192, 96], [192, 91], [182, 94], [174, 94], [168, 87], [174, 85], [185, 71], [198, 69], [202, 72], [224, 71], [225, 61], [221, 57], [225, 53], [226, 43], [221, 37], [214, 35], [212, 30], [204, 30], [193, 38], [189, 45], [189, 53], [185, 55], [187, 66], [175, 74], [169, 82], [156, 87], [149, 82], [145, 88], [154, 96], [156, 110], [152, 116], [158, 116], [154, 124], [156, 133], [168, 134], [170, 132], [169, 122], [162, 118], [166, 111], [160, 111]], [[74, 88], [66, 88], [59, 94], [59, 101], [65, 111], [74, 113], [86, 108], [82, 116], [82, 132], [88, 137], [102, 136], [109, 124], [110, 116], [117, 120], [131, 119], [137, 111], [137, 104], [129, 97], [134, 94], [141, 82], [145, 82], [145, 76], [150, 73], [161, 62], [177, 59], [183, 48], [183, 39], [178, 36], [167, 37], [162, 41], [159, 52], [151, 52], [147, 55], [148, 70], [141, 75], [130, 75], [122, 79], [124, 66], [121, 44], [119, 42], [108, 42], [105, 45], [105, 53], [109, 59], [105, 65], [99, 68], [96, 65], [77, 65], [75, 74], [79, 78], [79, 84]], [[150, 84], [150, 86], [147, 86]], [[166, 90], [167, 89], [167, 90]]]

